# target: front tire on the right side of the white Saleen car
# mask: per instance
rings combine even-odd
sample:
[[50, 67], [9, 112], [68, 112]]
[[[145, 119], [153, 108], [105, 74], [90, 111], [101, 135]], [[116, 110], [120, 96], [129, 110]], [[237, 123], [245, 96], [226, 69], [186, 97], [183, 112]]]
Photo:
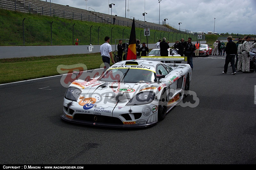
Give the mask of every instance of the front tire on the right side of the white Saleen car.
[[157, 117], [158, 120], [164, 120], [167, 112], [167, 94], [166, 89], [163, 90], [163, 94], [158, 104]]

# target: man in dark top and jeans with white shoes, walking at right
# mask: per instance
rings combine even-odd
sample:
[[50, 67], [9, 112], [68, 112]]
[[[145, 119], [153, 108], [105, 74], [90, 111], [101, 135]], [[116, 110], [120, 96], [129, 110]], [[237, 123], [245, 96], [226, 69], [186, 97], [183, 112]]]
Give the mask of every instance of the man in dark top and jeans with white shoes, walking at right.
[[236, 74], [236, 68], [235, 68], [235, 56], [236, 56], [236, 43], [232, 41], [232, 36], [228, 36], [228, 43], [226, 45], [226, 59], [225, 59], [225, 65], [224, 65], [224, 71], [223, 74], [227, 74], [228, 71], [228, 64], [231, 63], [232, 66], [232, 75]]

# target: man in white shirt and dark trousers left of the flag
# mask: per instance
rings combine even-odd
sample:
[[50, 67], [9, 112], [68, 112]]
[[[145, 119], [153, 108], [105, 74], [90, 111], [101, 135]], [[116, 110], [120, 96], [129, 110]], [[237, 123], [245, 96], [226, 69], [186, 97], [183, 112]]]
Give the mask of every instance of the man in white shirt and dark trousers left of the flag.
[[104, 72], [109, 68], [110, 66], [110, 58], [112, 63], [115, 64], [115, 61], [113, 60], [113, 56], [112, 56], [112, 47], [109, 44], [110, 42], [110, 38], [108, 36], [105, 37], [105, 43], [103, 43], [100, 46], [100, 55], [102, 57], [102, 61], [104, 63]]

